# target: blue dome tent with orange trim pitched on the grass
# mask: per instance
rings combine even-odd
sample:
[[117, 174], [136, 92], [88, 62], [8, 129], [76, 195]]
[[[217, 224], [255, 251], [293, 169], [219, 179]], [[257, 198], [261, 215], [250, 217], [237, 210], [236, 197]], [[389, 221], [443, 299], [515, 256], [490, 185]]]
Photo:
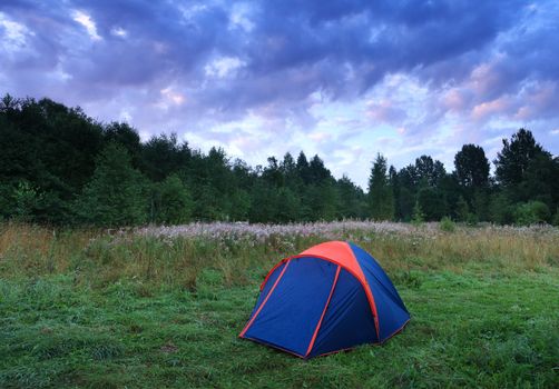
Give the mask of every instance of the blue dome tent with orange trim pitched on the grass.
[[330, 241], [269, 270], [239, 337], [307, 359], [382, 343], [409, 320], [374, 258], [351, 242]]

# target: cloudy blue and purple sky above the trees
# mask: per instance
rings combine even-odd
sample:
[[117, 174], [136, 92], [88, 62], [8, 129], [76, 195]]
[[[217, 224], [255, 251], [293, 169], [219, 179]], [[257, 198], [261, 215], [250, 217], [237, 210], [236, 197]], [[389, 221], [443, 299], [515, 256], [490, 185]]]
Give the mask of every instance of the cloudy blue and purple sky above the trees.
[[559, 2], [0, 0], [0, 94], [252, 166], [304, 150], [366, 188], [376, 153], [453, 170], [532, 131], [559, 153]]

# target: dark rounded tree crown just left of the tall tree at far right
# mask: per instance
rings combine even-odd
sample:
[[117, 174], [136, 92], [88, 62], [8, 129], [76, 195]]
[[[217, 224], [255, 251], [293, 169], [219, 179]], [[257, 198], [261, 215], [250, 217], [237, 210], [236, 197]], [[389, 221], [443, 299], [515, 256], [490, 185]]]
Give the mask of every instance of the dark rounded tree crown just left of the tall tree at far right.
[[462, 150], [454, 156], [454, 169], [463, 188], [487, 188], [489, 184], [489, 161], [479, 146], [462, 146]]

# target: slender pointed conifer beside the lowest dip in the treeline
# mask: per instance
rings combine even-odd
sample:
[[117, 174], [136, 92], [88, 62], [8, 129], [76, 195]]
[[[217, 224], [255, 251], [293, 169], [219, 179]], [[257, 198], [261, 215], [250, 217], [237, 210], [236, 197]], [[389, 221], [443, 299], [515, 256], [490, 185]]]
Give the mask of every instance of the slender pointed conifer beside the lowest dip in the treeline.
[[386, 176], [386, 159], [380, 153], [369, 178], [369, 207], [373, 220], [394, 219], [394, 193]]

